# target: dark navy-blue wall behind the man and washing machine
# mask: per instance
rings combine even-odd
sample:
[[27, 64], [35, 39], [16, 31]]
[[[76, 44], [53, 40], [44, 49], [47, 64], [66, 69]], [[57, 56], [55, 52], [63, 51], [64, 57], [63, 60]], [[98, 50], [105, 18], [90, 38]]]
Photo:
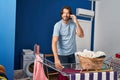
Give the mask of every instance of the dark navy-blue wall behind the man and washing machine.
[[35, 43], [42, 53], [52, 53], [51, 40], [54, 24], [60, 20], [63, 6], [91, 9], [87, 0], [17, 0], [15, 69], [21, 68], [22, 49], [32, 49]]

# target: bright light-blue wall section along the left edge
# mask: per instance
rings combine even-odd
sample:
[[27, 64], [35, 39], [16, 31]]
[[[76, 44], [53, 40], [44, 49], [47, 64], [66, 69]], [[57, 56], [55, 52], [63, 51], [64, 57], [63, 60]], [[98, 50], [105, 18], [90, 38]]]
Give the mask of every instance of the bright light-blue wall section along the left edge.
[[13, 80], [16, 0], [0, 0], [0, 64]]

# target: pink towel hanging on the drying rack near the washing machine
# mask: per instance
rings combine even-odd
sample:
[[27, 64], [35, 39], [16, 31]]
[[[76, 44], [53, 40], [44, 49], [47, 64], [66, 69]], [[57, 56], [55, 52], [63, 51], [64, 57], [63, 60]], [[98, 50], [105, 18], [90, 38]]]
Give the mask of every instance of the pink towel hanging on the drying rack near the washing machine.
[[33, 80], [48, 80], [44, 73], [43, 65], [41, 61], [42, 59], [40, 55], [37, 54], [36, 59], [34, 60]]

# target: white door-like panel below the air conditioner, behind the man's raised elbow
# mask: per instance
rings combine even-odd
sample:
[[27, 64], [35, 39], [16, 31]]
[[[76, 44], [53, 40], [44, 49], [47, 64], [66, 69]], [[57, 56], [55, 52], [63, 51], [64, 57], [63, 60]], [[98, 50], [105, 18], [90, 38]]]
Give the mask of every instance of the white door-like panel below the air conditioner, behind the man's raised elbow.
[[83, 51], [84, 49], [90, 50], [91, 45], [91, 21], [78, 20], [83, 31], [84, 38], [76, 36], [77, 51]]

